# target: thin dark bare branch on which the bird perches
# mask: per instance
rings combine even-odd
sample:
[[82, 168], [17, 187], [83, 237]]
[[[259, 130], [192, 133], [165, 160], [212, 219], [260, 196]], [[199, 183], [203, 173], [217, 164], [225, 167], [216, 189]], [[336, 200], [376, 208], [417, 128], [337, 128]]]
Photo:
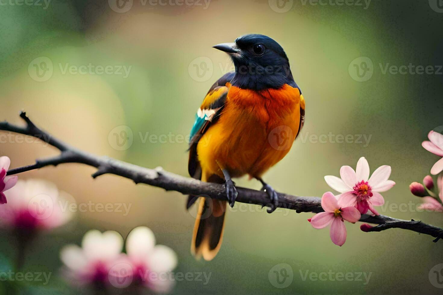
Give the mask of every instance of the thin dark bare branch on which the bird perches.
[[[51, 134], [35, 126], [35, 124], [32, 123], [32, 121], [27, 117], [25, 112], [21, 112], [20, 117], [25, 121], [26, 126], [17, 126], [5, 121], [0, 123], [0, 130], [40, 138], [51, 146], [59, 149], [61, 153], [55, 157], [36, 160], [35, 164], [33, 165], [10, 169], [8, 171], [8, 175], [39, 169], [50, 165], [56, 166], [64, 163], [82, 163], [97, 168], [97, 172], [93, 173], [92, 175], [93, 178], [109, 173], [131, 179], [136, 184], [149, 184], [155, 187], [163, 188], [167, 191], [181, 192], [184, 195], [206, 195], [212, 199], [226, 200], [225, 186], [222, 184], [201, 182], [193, 178], [167, 172], [161, 167], [148, 169], [110, 157], [99, 157], [91, 153], [75, 149], [57, 138], [54, 138]], [[237, 188], [237, 191], [237, 202], [261, 205], [262, 207], [272, 205], [268, 195], [265, 192], [240, 187]], [[299, 197], [284, 193], [278, 193], [278, 196], [280, 208], [295, 210], [297, 213], [318, 213], [323, 211], [320, 198], [318, 197]], [[420, 234], [428, 234], [435, 238], [435, 242], [440, 238], [443, 238], [442, 228], [432, 226], [421, 221], [407, 221], [384, 215], [362, 215], [360, 221], [378, 224], [378, 226], [366, 228], [365, 231], [367, 232], [378, 232], [391, 228], [400, 228], [404, 230], [412, 230]]]

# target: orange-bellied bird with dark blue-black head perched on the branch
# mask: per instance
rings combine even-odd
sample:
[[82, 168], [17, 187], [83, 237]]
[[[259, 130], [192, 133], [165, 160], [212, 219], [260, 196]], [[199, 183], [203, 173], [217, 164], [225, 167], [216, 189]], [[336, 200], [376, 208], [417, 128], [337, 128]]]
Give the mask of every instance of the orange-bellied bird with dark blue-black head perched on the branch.
[[278, 194], [262, 175], [289, 152], [305, 121], [305, 101], [279, 43], [246, 34], [213, 48], [229, 54], [235, 70], [209, 89], [190, 132], [190, 176], [224, 184], [227, 197], [188, 197], [188, 210], [199, 199], [191, 253], [205, 261], [220, 250], [226, 203], [233, 207], [238, 194], [233, 178], [260, 181], [271, 201], [267, 211], [276, 210]]

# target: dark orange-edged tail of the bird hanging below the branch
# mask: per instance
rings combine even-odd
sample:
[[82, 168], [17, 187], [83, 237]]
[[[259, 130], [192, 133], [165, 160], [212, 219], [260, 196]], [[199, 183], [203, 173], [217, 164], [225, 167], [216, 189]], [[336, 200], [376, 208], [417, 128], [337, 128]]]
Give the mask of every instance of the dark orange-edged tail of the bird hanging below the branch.
[[[217, 177], [202, 181], [224, 183]], [[200, 259], [212, 260], [218, 253], [223, 239], [226, 201], [219, 201], [201, 197], [198, 204], [197, 217], [195, 219], [194, 233], [192, 235], [191, 253]]]

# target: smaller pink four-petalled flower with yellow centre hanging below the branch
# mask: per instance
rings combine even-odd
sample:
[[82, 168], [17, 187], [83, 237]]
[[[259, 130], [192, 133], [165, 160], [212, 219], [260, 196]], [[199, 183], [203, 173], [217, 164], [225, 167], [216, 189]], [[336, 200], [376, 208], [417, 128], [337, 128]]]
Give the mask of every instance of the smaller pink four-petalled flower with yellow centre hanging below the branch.
[[343, 245], [346, 241], [346, 226], [343, 219], [352, 223], [358, 222], [361, 217], [360, 212], [355, 207], [341, 208], [331, 192], [323, 195], [322, 208], [325, 212], [320, 212], [311, 218], [312, 227], [320, 229], [332, 223], [330, 238], [335, 245]]

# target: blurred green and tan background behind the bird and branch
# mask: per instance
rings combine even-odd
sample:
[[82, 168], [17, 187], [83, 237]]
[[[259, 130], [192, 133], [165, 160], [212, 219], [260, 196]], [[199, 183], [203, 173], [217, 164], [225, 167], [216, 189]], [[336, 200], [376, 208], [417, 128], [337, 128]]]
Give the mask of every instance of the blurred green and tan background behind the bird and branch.
[[[0, 119], [21, 123], [17, 114], [24, 109], [35, 123], [80, 149], [187, 176], [187, 143], [182, 136], [189, 134], [207, 90], [232, 68], [229, 57], [211, 46], [233, 42], [242, 34], [266, 34], [288, 54], [306, 99], [307, 117], [301, 137], [265, 180], [280, 192], [321, 196], [331, 190], [323, 176], [338, 176], [342, 165], [355, 167], [364, 156], [371, 172], [381, 165], [392, 166], [390, 179], [397, 184], [383, 194], [389, 204], [420, 203], [408, 185], [421, 181], [438, 159], [420, 144], [429, 130], [443, 125], [443, 71], [384, 74], [382, 68], [443, 65], [443, 13], [432, 9], [432, 0], [372, 0], [369, 6], [363, 1], [361, 6], [331, 5], [340, 2], [334, 0], [323, 2], [326, 5], [278, 1], [280, 6], [275, 0], [212, 0], [208, 6], [204, 2], [178, 6], [134, 0], [126, 12], [111, 9], [112, 0], [52, 0], [46, 9], [44, 2], [42, 6], [2, 2]], [[53, 69], [44, 81], [32, 68], [41, 57], [49, 58]], [[354, 80], [351, 70], [351, 62], [358, 57], [373, 62], [372, 77], [364, 82]], [[128, 77], [63, 72], [67, 64], [89, 63], [131, 68]], [[195, 67], [206, 74], [197, 75]], [[128, 149], [115, 149], [115, 141], [109, 139], [118, 126], [132, 130]], [[354, 140], [315, 140], [330, 133], [352, 134]], [[145, 141], [147, 134], [171, 134], [172, 139]], [[358, 134], [371, 136], [369, 143], [364, 138], [358, 142]], [[55, 153], [42, 143], [0, 145], [0, 154], [12, 159], [12, 167]], [[20, 175], [51, 180], [77, 203], [132, 204], [127, 216], [78, 212], [74, 222], [38, 238], [24, 271], [53, 272], [47, 287], [54, 292], [77, 292], [58, 276], [63, 245], [79, 244], [89, 229], [117, 230], [126, 237], [140, 225], [150, 227], [159, 244], [177, 252], [176, 272], [211, 273], [206, 285], [177, 282], [177, 294], [441, 292], [428, 275], [443, 262], [443, 242], [435, 244], [430, 236], [406, 230], [363, 233], [358, 225], [347, 224], [348, 239], [338, 247], [327, 229], [314, 230], [309, 225], [306, 219], [312, 214], [282, 210], [268, 215], [257, 212], [256, 206], [239, 212], [237, 204], [230, 210], [236, 212], [227, 213], [218, 256], [211, 262], [195, 261], [190, 254], [194, 218], [184, 209], [183, 195], [134, 185], [117, 176], [93, 180], [93, 172], [72, 164]], [[247, 178], [237, 184], [260, 188]], [[441, 213], [387, 208], [379, 211], [443, 226]], [[2, 232], [1, 237], [1, 255], [12, 257], [15, 249], [8, 233]], [[291, 266], [293, 281], [280, 289], [271, 284], [268, 273], [282, 263]], [[364, 279], [303, 280], [307, 271], [372, 274], [365, 285]]]

